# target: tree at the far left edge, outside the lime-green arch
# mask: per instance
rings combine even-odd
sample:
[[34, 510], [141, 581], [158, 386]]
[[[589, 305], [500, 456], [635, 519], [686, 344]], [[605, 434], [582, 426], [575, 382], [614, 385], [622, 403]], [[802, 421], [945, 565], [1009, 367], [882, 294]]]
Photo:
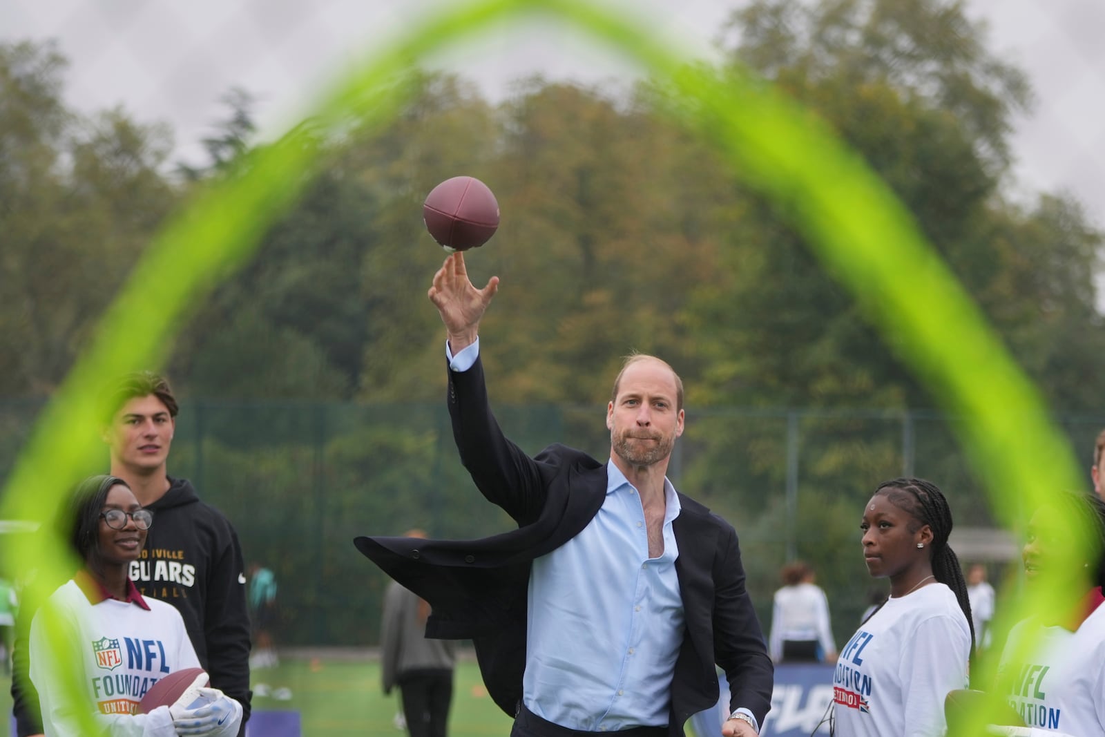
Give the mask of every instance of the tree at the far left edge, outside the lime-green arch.
[[[0, 393], [49, 393], [177, 194], [164, 126], [88, 119], [50, 43], [0, 44]], [[150, 298], [156, 298], [151, 289]]]

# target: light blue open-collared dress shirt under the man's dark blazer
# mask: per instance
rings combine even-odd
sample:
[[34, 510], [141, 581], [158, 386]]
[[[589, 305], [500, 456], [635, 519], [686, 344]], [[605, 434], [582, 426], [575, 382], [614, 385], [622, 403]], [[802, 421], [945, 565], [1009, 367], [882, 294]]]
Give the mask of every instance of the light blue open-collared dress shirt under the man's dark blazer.
[[562, 727], [611, 731], [669, 722], [683, 599], [664, 480], [664, 551], [649, 558], [644, 508], [612, 461], [607, 497], [579, 535], [534, 560], [523, 701]]

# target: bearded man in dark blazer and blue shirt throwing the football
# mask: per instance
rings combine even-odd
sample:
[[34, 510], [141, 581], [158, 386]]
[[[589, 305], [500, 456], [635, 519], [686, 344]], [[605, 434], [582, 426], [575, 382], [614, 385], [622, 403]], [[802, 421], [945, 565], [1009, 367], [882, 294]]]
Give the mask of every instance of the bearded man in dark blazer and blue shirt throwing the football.
[[[518, 529], [484, 540], [358, 537], [358, 549], [432, 613], [427, 635], [472, 639], [512, 737], [683, 737], [718, 699], [723, 737], [750, 737], [774, 666], [745, 588], [737, 535], [665, 476], [683, 432], [682, 382], [627, 359], [607, 406], [610, 457], [554, 444], [529, 457], [491, 412], [478, 326], [498, 277], [477, 289], [462, 253], [429, 291], [445, 324], [448, 404], [461, 461]], [[709, 736], [702, 736], [709, 737]]]

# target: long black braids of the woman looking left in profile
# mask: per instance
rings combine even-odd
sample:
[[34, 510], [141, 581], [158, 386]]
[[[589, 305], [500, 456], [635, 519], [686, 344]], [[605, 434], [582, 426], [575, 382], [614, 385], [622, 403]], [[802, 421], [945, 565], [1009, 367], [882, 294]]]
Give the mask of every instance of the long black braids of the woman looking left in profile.
[[970, 628], [971, 656], [974, 656], [975, 624], [971, 621], [970, 601], [967, 598], [967, 581], [964, 579], [959, 558], [948, 546], [948, 535], [951, 534], [951, 507], [948, 506], [944, 493], [936, 484], [924, 478], [894, 478], [880, 484], [875, 495], [885, 496], [891, 504], [922, 524], [928, 525], [933, 530], [933, 544], [929, 547], [933, 576], [956, 594], [959, 608], [967, 617], [967, 627]]

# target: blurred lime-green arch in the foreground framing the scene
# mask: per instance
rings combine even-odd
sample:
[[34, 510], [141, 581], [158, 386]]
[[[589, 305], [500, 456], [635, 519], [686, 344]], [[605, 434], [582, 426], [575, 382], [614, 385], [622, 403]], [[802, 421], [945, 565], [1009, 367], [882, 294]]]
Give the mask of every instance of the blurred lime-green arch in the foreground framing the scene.
[[[1007, 499], [1030, 508], [1054, 489], [1082, 487], [1048, 408], [909, 213], [813, 116], [762, 81], [693, 64], [649, 29], [583, 0], [482, 0], [439, 9], [397, 38], [334, 84], [305, 124], [246, 157], [166, 224], [40, 417], [9, 475], [0, 516], [45, 520], [81, 470], [95, 467], [103, 448], [87, 429], [99, 423], [97, 388], [164, 362], [187, 305], [250, 257], [324, 166], [316, 141], [350, 118], [371, 129], [396, 116], [412, 94], [409, 71], [431, 52], [488, 24], [535, 15], [640, 64], [661, 81], [667, 110], [682, 125], [707, 139], [745, 181], [787, 204], [824, 267], [851, 289], [940, 407], [962, 419], [959, 441], [1004, 524], [1017, 525], [1011, 515], [1020, 506]], [[6, 567], [69, 570], [60, 540], [20, 537], [3, 550]]]

